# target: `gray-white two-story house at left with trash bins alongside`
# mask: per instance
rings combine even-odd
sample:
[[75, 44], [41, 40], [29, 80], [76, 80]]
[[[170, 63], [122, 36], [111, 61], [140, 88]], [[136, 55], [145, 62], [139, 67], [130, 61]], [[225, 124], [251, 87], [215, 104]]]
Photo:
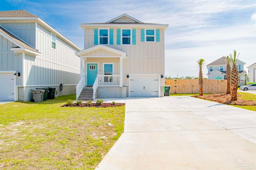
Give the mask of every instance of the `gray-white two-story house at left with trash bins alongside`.
[[30, 89], [64, 84], [74, 94], [80, 80], [81, 49], [25, 10], [0, 12], [0, 100], [30, 101]]

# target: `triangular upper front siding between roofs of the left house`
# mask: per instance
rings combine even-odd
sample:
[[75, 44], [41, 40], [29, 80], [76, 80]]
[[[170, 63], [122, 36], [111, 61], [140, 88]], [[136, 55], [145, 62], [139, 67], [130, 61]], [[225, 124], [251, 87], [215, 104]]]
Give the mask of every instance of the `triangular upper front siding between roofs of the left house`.
[[7, 22], [0, 23], [5, 29], [36, 47], [36, 23], [35, 22]]

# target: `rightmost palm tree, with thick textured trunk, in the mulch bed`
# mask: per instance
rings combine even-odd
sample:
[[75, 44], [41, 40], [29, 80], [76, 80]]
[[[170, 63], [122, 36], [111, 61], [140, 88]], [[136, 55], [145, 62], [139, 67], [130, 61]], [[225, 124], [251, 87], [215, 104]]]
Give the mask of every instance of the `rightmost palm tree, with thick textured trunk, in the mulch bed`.
[[[238, 54], [238, 56], [239, 56], [239, 54]], [[237, 100], [237, 88], [238, 88], [239, 77], [238, 77], [238, 69], [236, 66], [236, 61], [238, 59], [238, 56], [236, 57], [236, 50], [234, 50], [234, 57], [232, 56], [232, 54], [230, 54], [230, 58], [233, 63], [231, 74], [230, 74], [230, 87], [231, 87], [231, 99], [230, 100], [232, 100], [232, 101]]]

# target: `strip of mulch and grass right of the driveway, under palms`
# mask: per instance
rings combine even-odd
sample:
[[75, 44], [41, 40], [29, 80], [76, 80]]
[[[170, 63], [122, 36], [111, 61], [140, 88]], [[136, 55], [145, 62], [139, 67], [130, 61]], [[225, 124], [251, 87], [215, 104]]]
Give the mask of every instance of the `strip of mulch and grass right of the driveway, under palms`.
[[209, 94], [204, 96], [194, 95], [192, 97], [256, 111], [256, 95], [250, 93], [238, 92], [237, 101], [230, 101], [230, 94]]

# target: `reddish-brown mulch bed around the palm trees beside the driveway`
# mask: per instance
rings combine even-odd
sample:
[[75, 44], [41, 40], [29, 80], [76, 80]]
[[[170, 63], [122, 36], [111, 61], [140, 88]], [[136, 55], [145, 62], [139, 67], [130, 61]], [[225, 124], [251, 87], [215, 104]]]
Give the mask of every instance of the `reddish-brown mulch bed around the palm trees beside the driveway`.
[[[241, 95], [237, 95], [238, 97]], [[232, 105], [239, 105], [239, 106], [256, 106], [256, 101], [254, 100], [244, 100], [244, 99], [237, 99], [237, 101], [231, 101], [230, 94], [207, 94], [203, 96], [194, 95], [194, 98], [201, 98], [206, 100], [211, 100], [214, 102], [218, 102], [221, 104], [232, 104]]]

